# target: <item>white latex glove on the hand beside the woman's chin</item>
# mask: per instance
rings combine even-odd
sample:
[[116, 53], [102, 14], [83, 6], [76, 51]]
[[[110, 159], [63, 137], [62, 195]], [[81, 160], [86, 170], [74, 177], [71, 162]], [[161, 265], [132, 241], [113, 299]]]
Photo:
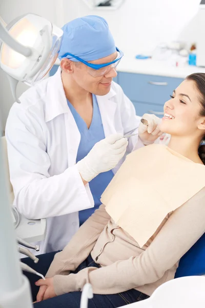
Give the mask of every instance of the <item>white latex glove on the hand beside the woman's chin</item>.
[[159, 129], [161, 119], [154, 114], [148, 113], [142, 115], [142, 118], [148, 121], [148, 126], [140, 122], [138, 128], [139, 138], [145, 145], [152, 144], [163, 133]]

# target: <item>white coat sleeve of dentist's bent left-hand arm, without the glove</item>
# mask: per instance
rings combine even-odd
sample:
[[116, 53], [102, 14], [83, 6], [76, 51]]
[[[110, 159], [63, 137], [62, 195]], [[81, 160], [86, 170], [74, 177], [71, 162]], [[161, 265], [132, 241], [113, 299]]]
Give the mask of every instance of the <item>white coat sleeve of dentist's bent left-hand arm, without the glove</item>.
[[84, 185], [76, 165], [50, 175], [53, 166], [46, 150], [46, 137], [40, 124], [33, 121], [30, 115], [18, 117], [10, 113], [7, 122], [14, 206], [29, 219], [61, 216], [92, 207], [89, 185]]

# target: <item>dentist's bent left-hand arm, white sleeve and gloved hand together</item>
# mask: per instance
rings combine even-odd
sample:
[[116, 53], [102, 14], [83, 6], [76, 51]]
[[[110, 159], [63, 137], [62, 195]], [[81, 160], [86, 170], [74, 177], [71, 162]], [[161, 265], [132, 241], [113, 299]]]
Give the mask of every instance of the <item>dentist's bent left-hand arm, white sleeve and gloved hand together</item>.
[[[51, 176], [54, 166], [47, 153], [49, 138], [42, 118], [36, 118], [35, 112], [25, 110], [21, 104], [12, 106], [6, 126], [10, 180], [14, 205], [29, 219], [61, 216], [92, 207], [93, 197], [86, 182], [112, 169], [128, 143], [122, 134], [109, 136], [97, 143], [78, 165], [61, 171], [55, 168]], [[60, 159], [59, 156], [56, 165], [61, 166]]]

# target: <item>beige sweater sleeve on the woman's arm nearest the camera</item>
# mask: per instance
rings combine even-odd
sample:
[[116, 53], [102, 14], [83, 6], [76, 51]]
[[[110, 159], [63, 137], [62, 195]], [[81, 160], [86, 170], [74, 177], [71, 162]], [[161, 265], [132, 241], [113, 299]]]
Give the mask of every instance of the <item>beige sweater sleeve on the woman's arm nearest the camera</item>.
[[85, 268], [69, 276], [55, 276], [56, 294], [81, 291], [88, 282], [95, 294], [114, 294], [157, 281], [205, 232], [204, 201], [205, 188], [174, 211], [140, 256], [101, 268]]

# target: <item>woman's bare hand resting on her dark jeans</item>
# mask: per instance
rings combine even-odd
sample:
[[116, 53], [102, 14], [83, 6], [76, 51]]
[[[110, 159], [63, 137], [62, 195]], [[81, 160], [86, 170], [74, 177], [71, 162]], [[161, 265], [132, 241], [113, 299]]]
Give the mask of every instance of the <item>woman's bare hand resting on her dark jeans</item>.
[[46, 280], [39, 279], [35, 284], [40, 286], [36, 297], [37, 302], [56, 296], [53, 286], [53, 278], [46, 278]]

